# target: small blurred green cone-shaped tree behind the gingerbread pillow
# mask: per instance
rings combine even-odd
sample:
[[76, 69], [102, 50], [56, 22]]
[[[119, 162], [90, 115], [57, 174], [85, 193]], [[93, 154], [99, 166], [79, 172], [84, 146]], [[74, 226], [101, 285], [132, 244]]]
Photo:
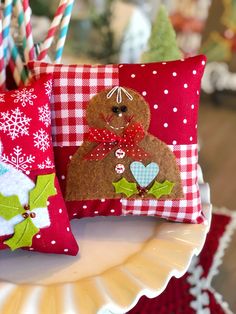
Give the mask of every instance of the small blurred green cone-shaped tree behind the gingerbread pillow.
[[169, 61], [181, 58], [175, 31], [163, 5], [160, 6], [157, 14], [148, 46], [148, 50], [142, 55], [143, 62]]

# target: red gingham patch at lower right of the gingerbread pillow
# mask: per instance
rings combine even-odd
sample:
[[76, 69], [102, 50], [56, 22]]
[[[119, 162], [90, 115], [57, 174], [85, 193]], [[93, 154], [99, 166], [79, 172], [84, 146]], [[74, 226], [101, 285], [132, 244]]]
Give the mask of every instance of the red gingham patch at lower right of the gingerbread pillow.
[[169, 145], [169, 148], [174, 152], [180, 168], [185, 198], [165, 201], [123, 199], [123, 215], [159, 216], [183, 222], [203, 221], [203, 217], [199, 217], [201, 201], [197, 184], [197, 144]]

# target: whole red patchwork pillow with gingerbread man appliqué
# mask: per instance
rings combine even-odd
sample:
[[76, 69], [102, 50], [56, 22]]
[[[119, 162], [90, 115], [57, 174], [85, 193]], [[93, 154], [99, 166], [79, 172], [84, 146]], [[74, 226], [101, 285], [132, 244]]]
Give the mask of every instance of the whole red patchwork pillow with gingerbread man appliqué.
[[205, 62], [29, 64], [35, 77], [53, 73], [56, 169], [71, 218], [204, 220], [197, 116]]

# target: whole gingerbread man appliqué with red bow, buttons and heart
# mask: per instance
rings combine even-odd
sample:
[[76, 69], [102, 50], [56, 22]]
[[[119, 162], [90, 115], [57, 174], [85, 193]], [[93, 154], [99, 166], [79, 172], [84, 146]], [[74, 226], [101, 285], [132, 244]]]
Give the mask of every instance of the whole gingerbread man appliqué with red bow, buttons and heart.
[[67, 173], [66, 199], [180, 199], [180, 171], [168, 146], [147, 132], [150, 110], [134, 90], [103, 90], [88, 103], [90, 127]]

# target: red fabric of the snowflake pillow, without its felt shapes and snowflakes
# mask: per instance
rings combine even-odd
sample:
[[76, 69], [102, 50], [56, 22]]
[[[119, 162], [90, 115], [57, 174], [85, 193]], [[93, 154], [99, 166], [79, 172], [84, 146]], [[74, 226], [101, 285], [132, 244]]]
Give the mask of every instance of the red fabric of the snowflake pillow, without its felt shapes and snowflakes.
[[[20, 101], [15, 101], [16, 98], [12, 95], [16, 94], [16, 91], [10, 91], [2, 93], [1, 96], [4, 98], [4, 102], [1, 102], [1, 113], [9, 112], [15, 108], [19, 108], [25, 116], [31, 119], [29, 125], [29, 135], [22, 135], [15, 139], [12, 139], [8, 131], [0, 130], [0, 138], [2, 142], [3, 154], [9, 156], [14, 156], [14, 148], [19, 146], [22, 148], [22, 155], [24, 156], [33, 155], [35, 157], [34, 162], [26, 164], [26, 168], [22, 170], [25, 172], [32, 180], [36, 181], [38, 175], [48, 174], [54, 172], [54, 157], [52, 149], [52, 140], [51, 140], [51, 126], [46, 126], [42, 121], [39, 120], [39, 111], [38, 108], [44, 105], [48, 105], [50, 109], [50, 93], [46, 95], [45, 83], [51, 79], [51, 75], [44, 75], [39, 81], [36, 81], [32, 86], [28, 86], [25, 90], [30, 91], [36, 95], [37, 98], [32, 99], [33, 104], [27, 103], [25, 106], [22, 105]], [[22, 91], [19, 89], [18, 91]], [[2, 122], [2, 115], [0, 116], [0, 122]], [[34, 136], [33, 134], [39, 129], [43, 129], [45, 134], [48, 135], [49, 146], [45, 151], [40, 150], [34, 146]], [[11, 155], [13, 154], [13, 155]], [[22, 158], [20, 156], [19, 158]], [[51, 167], [40, 169], [39, 164], [45, 163], [45, 160], [49, 158], [51, 161]], [[4, 161], [6, 163], [7, 161]], [[73, 234], [70, 230], [70, 224], [67, 214], [67, 209], [63, 196], [61, 194], [60, 186], [57, 178], [55, 179], [55, 187], [57, 189], [57, 195], [52, 196], [48, 199], [50, 202], [48, 206], [49, 216], [51, 220], [51, 225], [47, 228], [40, 229], [40, 232], [34, 236], [33, 244], [30, 250], [36, 250], [39, 252], [45, 253], [61, 253], [61, 254], [70, 254], [76, 255], [78, 252], [78, 245], [75, 241]], [[59, 212], [60, 209], [60, 212]], [[37, 236], [40, 236], [38, 238]], [[4, 240], [10, 238], [11, 236], [0, 237], [0, 250], [7, 248], [3, 244]], [[53, 242], [53, 244], [51, 243]]]

